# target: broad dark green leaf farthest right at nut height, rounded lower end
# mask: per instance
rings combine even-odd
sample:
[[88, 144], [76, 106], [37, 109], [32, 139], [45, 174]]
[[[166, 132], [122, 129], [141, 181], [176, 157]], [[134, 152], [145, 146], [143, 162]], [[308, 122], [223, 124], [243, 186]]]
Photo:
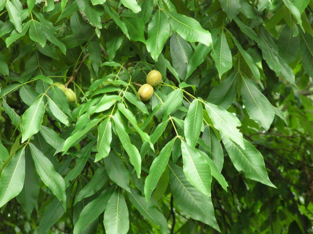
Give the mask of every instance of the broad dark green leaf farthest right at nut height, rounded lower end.
[[268, 130], [275, 116], [272, 105], [250, 79], [243, 77], [242, 81], [242, 101], [250, 118]]

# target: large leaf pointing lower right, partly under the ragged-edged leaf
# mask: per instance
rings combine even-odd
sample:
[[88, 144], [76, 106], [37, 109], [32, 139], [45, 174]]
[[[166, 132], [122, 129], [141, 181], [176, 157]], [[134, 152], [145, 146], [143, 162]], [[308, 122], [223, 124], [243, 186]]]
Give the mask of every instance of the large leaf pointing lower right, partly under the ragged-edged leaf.
[[238, 171], [243, 171], [245, 176], [251, 180], [276, 188], [269, 180], [261, 153], [253, 145], [244, 140], [246, 149], [243, 150], [224, 135], [222, 135], [222, 140], [233, 165]]

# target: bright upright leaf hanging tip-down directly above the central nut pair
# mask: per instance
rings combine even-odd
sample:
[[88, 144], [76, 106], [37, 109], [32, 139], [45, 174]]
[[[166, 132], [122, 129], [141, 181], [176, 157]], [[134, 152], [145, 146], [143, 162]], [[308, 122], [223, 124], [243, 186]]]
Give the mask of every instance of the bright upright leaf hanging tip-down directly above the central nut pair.
[[154, 61], [157, 61], [170, 35], [170, 24], [161, 10], [157, 10], [148, 25], [146, 47]]

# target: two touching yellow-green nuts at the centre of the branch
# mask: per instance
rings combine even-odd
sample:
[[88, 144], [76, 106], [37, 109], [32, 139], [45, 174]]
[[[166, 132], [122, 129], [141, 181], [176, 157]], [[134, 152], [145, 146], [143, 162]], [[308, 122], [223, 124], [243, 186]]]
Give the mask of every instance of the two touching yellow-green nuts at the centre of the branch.
[[144, 84], [138, 90], [141, 101], [148, 101], [153, 95], [153, 86], [160, 84], [162, 75], [159, 71], [152, 70], [147, 75], [147, 84]]

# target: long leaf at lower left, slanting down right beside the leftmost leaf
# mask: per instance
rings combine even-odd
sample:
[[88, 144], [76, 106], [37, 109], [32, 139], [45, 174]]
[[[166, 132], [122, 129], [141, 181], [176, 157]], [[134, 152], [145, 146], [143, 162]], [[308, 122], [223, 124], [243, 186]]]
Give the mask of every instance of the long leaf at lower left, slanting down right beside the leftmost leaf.
[[29, 146], [38, 175], [59, 201], [63, 201], [64, 207], [66, 202], [64, 179], [54, 170], [50, 160], [35, 145], [29, 143]]

